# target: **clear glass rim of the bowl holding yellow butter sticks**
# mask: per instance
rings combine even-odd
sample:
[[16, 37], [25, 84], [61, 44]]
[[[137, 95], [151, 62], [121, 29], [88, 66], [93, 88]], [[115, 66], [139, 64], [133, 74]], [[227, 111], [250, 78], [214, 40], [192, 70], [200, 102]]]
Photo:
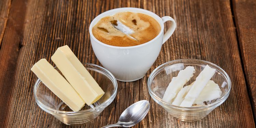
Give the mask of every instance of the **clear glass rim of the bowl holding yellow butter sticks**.
[[[81, 111], [77, 111], [77, 112], [73, 112], [73, 111], [59, 111], [59, 110], [56, 110], [56, 109], [53, 109], [53, 108], [50, 108], [50, 107], [46, 106], [45, 104], [43, 104], [39, 100], [39, 98], [36, 95], [36, 92], [37, 92], [37, 88], [39, 87], [39, 84], [42, 81], [40, 79], [37, 79], [37, 81], [34, 84], [33, 93], [34, 93], [35, 101], [37, 102], [38, 106], [41, 109], [43, 109], [44, 111], [46, 111], [48, 113], [53, 112], [53, 113], [59, 113], [59, 114], [76, 115], [76, 114], [82, 114], [82, 113], [88, 113], [88, 112], [97, 111], [97, 110], [100, 110], [102, 108], [104, 109], [106, 106], [108, 106], [109, 104], [111, 104], [113, 102], [113, 100], [115, 99], [116, 94], [117, 94], [117, 81], [116, 81], [115, 76], [110, 71], [108, 71], [107, 69], [105, 69], [105, 68], [103, 68], [101, 66], [98, 66], [98, 65], [95, 65], [95, 64], [92, 64], [92, 63], [82, 63], [82, 64], [84, 66], [85, 65], [95, 66], [95, 67], [100, 68], [103, 71], [105, 71], [106, 73], [104, 75], [109, 76], [110, 80], [112, 81], [112, 83], [114, 85], [114, 93], [106, 101], [104, 101], [103, 103], [101, 103], [98, 106], [95, 106], [94, 108], [90, 108], [90, 109], [86, 109], [86, 110], [81, 110]], [[57, 67], [54, 67], [54, 68], [56, 69]], [[98, 72], [98, 73], [101, 73], [101, 72]]]

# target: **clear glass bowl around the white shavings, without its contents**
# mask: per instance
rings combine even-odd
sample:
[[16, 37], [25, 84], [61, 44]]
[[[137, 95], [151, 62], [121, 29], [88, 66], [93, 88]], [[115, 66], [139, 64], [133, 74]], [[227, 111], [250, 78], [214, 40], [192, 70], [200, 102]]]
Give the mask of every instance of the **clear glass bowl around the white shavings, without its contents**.
[[[194, 76], [185, 84], [190, 85], [196, 80], [198, 74], [204, 69], [206, 65], [216, 69], [216, 73], [212, 79], [222, 91], [220, 98], [206, 102], [204, 106], [193, 107], [180, 107], [169, 104], [162, 100], [163, 94], [172, 77], [177, 76], [180, 70], [185, 69], [187, 66], [193, 66], [195, 68]], [[152, 99], [161, 105], [170, 115], [181, 121], [196, 121], [207, 116], [213, 109], [221, 105], [229, 96], [231, 89], [231, 81], [228, 74], [218, 67], [217, 65], [197, 59], [180, 59], [166, 62], [158, 66], [148, 77], [147, 87]]]

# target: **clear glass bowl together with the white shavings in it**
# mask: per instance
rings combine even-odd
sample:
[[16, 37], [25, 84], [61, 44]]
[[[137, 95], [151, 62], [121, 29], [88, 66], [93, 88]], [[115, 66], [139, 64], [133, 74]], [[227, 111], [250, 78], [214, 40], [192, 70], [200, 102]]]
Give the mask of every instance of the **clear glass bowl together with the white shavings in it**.
[[[194, 67], [194, 73], [191, 77], [188, 75], [189, 72], [183, 71], [188, 67]], [[210, 71], [201, 73], [205, 67], [210, 67], [210, 69], [213, 70], [212, 75], [210, 75]], [[183, 74], [179, 73], [180, 71], [183, 71]], [[184, 77], [189, 76], [189, 79], [184, 81], [182, 75], [184, 75]], [[208, 77], [210, 80], [205, 80], [207, 75], [210, 75]], [[199, 76], [201, 77], [199, 78]], [[203, 85], [203, 81], [208, 81], [208, 83], [206, 82], [207, 84]], [[213, 84], [209, 84], [209, 82]], [[185, 84], [182, 85], [181, 83]], [[182, 85], [182, 87], [176, 89], [175, 86], [179, 85]], [[228, 98], [231, 89], [231, 81], [228, 74], [223, 69], [211, 62], [197, 59], [179, 59], [158, 66], [150, 74], [147, 87], [152, 99], [161, 105], [170, 115], [178, 120], [191, 122], [204, 118]], [[185, 93], [184, 89], [188, 87], [190, 90], [187, 90]], [[212, 89], [214, 90], [212, 91], [210, 87], [215, 87], [215, 90]], [[167, 91], [169, 92], [166, 95]], [[207, 98], [213, 98], [214, 96], [218, 96], [218, 98], [207, 101]], [[166, 100], [166, 97], [167, 99], [169, 98], [169, 100]], [[189, 102], [191, 102], [191, 106], [188, 107], [186, 105]]]

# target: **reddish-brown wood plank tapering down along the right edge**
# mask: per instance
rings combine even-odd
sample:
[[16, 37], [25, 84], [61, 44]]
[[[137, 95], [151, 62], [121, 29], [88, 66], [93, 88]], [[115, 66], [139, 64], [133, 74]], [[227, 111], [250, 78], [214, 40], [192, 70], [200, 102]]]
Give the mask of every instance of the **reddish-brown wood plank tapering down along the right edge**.
[[256, 117], [256, 1], [233, 0], [233, 10], [246, 82]]

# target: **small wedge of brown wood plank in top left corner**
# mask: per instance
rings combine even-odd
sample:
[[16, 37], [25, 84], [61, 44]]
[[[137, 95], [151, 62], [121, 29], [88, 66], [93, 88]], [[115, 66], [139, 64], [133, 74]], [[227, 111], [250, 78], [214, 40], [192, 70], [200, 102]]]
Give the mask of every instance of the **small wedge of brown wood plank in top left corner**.
[[11, 0], [0, 1], [0, 48], [3, 39], [3, 33], [6, 27], [8, 15], [10, 12]]

